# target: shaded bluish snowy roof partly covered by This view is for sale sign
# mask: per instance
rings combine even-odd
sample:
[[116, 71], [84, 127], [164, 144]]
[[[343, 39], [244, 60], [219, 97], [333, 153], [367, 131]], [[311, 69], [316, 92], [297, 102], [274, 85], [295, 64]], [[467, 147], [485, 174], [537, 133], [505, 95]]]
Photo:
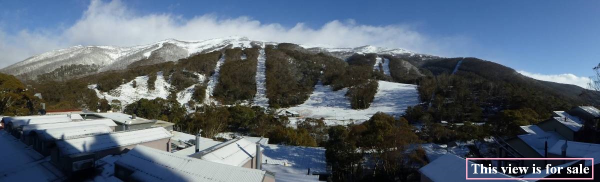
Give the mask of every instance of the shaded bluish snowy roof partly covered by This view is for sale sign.
[[[475, 164], [469, 161], [470, 164]], [[419, 169], [422, 175], [425, 175], [431, 181], [472, 181], [466, 180], [465, 178], [465, 159], [455, 156], [454, 154], [444, 154], [440, 156], [428, 165], [423, 166]], [[473, 168], [469, 166], [469, 177], [472, 178], [513, 178], [505, 174], [473, 174]], [[494, 180], [494, 181], [510, 181], [514, 182], [514, 179], [506, 180]], [[519, 180], [522, 181], [522, 180]]]

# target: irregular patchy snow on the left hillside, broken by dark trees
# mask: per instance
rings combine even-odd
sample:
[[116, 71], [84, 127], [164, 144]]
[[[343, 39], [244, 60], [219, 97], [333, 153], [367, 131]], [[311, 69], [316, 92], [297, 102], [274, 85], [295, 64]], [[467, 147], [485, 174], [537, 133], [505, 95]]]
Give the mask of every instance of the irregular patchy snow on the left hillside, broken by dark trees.
[[[204, 76], [199, 74], [199, 77], [200, 82], [202, 82]], [[134, 80], [136, 81], [136, 88], [133, 88]], [[109, 102], [116, 99], [121, 101], [122, 106], [126, 106], [140, 99], [156, 99], [157, 97], [167, 99], [169, 96], [171, 84], [166, 81], [162, 72], [157, 73], [156, 81], [154, 82], [155, 88], [153, 90], [148, 89], [148, 76], [138, 76], [134, 80], [124, 83], [109, 92], [99, 91], [97, 85], [89, 85], [88, 88], [94, 89], [98, 98], [106, 98]], [[195, 85], [192, 85], [177, 93], [177, 100], [181, 105], [190, 101], [191, 95], [194, 93], [194, 86]]]

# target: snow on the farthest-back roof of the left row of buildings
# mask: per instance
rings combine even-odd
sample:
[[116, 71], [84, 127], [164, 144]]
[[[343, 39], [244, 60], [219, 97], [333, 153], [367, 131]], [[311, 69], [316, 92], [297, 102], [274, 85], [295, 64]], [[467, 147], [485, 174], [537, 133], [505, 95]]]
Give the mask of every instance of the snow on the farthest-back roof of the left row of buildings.
[[73, 120], [82, 120], [82, 119], [83, 118], [79, 114], [2, 118], [2, 120], [4, 120], [5, 123], [12, 123], [13, 127], [15, 127], [15, 128], [30, 125], [30, 124], [65, 123], [65, 122], [73, 122]]

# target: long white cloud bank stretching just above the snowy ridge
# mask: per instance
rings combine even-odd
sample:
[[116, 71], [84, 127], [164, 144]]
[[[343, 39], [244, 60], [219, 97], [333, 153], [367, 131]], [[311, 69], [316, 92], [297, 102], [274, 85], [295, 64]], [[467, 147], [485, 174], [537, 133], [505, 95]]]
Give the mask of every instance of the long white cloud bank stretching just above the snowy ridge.
[[[454, 56], [454, 51], [460, 49], [455, 43], [466, 47], [469, 42], [465, 37], [427, 37], [407, 25], [372, 26], [353, 20], [331, 20], [319, 28], [310, 28], [300, 22], [286, 28], [278, 23], [261, 23], [244, 16], [223, 19], [205, 14], [184, 19], [177, 14], [134, 12], [121, 1], [92, 1], [76, 23], [64, 28], [23, 30], [7, 35], [0, 27], [0, 55], [5, 55], [2, 57], [5, 60], [0, 60], [0, 67], [34, 54], [77, 44], [134, 46], [167, 38], [192, 41], [238, 35], [251, 40], [335, 47], [371, 44], [441, 56]], [[453, 44], [448, 40], [453, 40]]]

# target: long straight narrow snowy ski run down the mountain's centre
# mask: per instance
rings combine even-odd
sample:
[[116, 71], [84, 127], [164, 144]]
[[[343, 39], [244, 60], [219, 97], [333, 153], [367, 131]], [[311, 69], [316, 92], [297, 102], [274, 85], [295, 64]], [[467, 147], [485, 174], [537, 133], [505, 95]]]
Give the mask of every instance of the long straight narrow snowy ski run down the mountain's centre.
[[269, 99], [266, 99], [266, 78], [265, 78], [265, 50], [260, 49], [258, 63], [256, 64], [256, 96], [254, 96], [254, 105], [267, 108]]

